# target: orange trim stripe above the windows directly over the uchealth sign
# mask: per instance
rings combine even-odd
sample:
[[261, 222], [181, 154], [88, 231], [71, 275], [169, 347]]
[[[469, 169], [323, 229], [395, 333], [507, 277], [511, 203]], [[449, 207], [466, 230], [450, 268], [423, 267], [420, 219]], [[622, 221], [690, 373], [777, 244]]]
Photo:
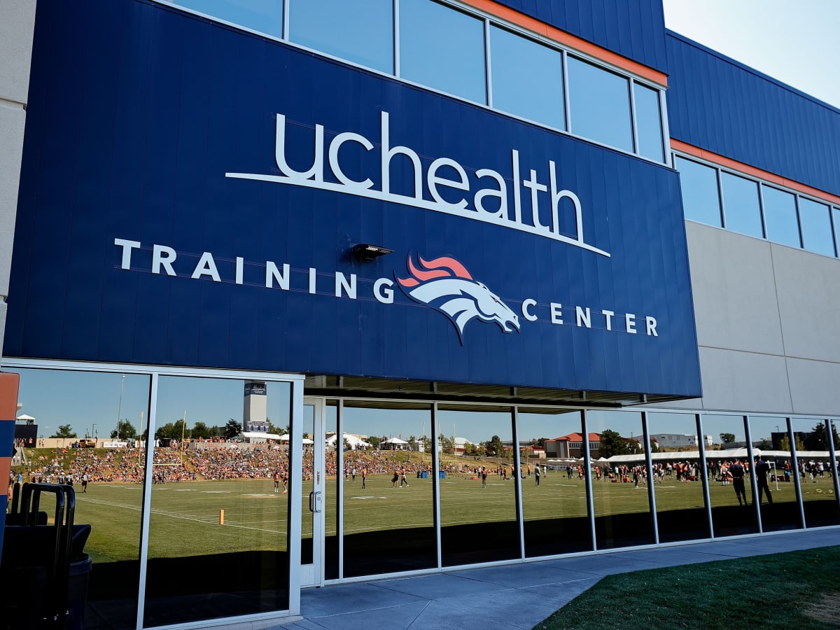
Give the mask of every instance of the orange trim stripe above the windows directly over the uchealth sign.
[[648, 81], [653, 81], [661, 87], [668, 87], [668, 75], [664, 74], [664, 72], [653, 70], [652, 68], [648, 68], [648, 66], [638, 63], [638, 61], [633, 61], [632, 59], [627, 59], [627, 57], [622, 57], [622, 55], [617, 55], [617, 53], [614, 53], [611, 50], [606, 50], [605, 48], [592, 44], [585, 39], [580, 39], [580, 37], [576, 37], [573, 34], [557, 29], [550, 24], [540, 22], [538, 19], [532, 18], [524, 13], [519, 13], [515, 9], [505, 7], [504, 5], [495, 3], [492, 0], [461, 0], [461, 2], [485, 13], [489, 13], [491, 16], [496, 18], [503, 19], [511, 24], [516, 24], [517, 26], [522, 27], [522, 29], [542, 35], [543, 37], [551, 39], [558, 44], [568, 46], [569, 48], [575, 49], [585, 55], [590, 55], [597, 60], [605, 61], [612, 66], [632, 72], [634, 75], [641, 76], [643, 79], [647, 79]]

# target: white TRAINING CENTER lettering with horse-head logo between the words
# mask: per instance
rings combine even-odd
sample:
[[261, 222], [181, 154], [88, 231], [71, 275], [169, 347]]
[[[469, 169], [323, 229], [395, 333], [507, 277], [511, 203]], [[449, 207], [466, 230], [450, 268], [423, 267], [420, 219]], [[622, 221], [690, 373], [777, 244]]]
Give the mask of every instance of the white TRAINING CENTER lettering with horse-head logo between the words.
[[[647, 314], [622, 313], [604, 307], [568, 303], [564, 306], [563, 302], [540, 303], [531, 297], [522, 300], [499, 297], [451, 256], [426, 259], [419, 255], [409, 255], [406, 272], [395, 270], [394, 280], [360, 279], [353, 273], [321, 271], [312, 267], [293, 269], [289, 263], [277, 263], [274, 260], [253, 262], [239, 256], [234, 260], [218, 259], [223, 263], [223, 270], [227, 270], [223, 276], [212, 252], [202, 252], [201, 255], [181, 254], [179, 259], [176, 250], [168, 245], [149, 246], [131, 239], [114, 239], [113, 244], [118, 248], [119, 269], [127, 271], [197, 281], [265, 286], [268, 291], [288, 291], [290, 294], [308, 293], [344, 300], [373, 299], [386, 305], [395, 303], [396, 288], [411, 302], [433, 308], [449, 319], [462, 345], [465, 341], [465, 327], [473, 321], [495, 324], [501, 333], [522, 332], [524, 320], [528, 323], [659, 336], [656, 318]], [[140, 264], [138, 260], [141, 256], [134, 255], [138, 251], [144, 253], [143, 260], [151, 258], [150, 262]], [[247, 281], [246, 270], [249, 276]], [[402, 305], [405, 306], [405, 303], [402, 302]]]

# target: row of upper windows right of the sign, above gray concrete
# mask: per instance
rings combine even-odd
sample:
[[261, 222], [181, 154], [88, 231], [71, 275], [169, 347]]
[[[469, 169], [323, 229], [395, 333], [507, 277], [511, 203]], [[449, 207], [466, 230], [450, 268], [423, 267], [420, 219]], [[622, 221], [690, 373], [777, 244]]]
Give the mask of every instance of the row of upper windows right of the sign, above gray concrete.
[[840, 208], [680, 155], [675, 167], [685, 218], [816, 254], [840, 253]]

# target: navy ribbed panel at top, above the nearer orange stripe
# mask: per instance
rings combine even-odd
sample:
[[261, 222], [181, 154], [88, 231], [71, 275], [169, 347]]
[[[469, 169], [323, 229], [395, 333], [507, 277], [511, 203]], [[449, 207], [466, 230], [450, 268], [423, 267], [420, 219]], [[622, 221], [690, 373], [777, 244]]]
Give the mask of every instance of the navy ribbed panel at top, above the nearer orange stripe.
[[665, 71], [662, 0], [496, 0], [606, 50]]

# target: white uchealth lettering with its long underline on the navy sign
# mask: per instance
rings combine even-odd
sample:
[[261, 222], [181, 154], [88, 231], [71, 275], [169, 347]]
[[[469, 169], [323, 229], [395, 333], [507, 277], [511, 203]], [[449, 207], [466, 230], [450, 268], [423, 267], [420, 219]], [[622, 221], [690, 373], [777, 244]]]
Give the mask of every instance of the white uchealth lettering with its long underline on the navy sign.
[[[316, 124], [312, 134], [313, 150], [307, 147], [305, 151], [296, 152], [296, 147], [289, 146], [287, 141], [286, 124], [286, 116], [278, 113], [275, 130], [276, 165], [272, 165], [272, 168], [276, 166], [281, 175], [229, 172], [225, 173], [225, 176], [288, 186], [306, 186], [454, 214], [609, 256], [603, 249], [585, 242], [580, 198], [575, 192], [559, 186], [554, 160], [549, 160], [540, 171], [527, 165], [524, 170], [528, 171], [528, 176], [525, 177], [519, 151], [512, 149], [510, 171], [504, 175], [489, 168], [470, 169], [468, 174], [463, 165], [451, 158], [438, 157], [429, 162], [421, 160], [422, 151], [418, 153], [407, 146], [391, 146], [390, 114], [387, 112], [380, 113], [379, 144], [374, 144], [361, 134], [345, 131], [335, 134], [327, 145], [324, 141], [323, 125]], [[345, 145], [355, 145], [356, 151], [363, 150], [362, 155], [379, 153], [378, 156], [371, 156], [365, 161], [367, 173], [363, 172], [361, 175], [364, 179], [352, 179], [344, 172], [339, 158]], [[300, 155], [295, 155], [296, 153], [306, 153], [312, 155], [312, 158], [301, 158]], [[406, 164], [411, 165], [412, 195], [391, 191], [392, 164], [399, 160], [408, 160]], [[301, 164], [302, 162], [305, 164]], [[428, 166], [425, 166], [426, 163]], [[298, 171], [291, 164], [298, 168], [303, 165], [305, 169]], [[379, 181], [378, 190], [371, 176]], [[424, 179], [428, 197], [431, 198], [425, 196]], [[508, 186], [511, 186], [510, 190]], [[561, 216], [569, 212], [575, 214], [574, 237], [561, 232]]]

